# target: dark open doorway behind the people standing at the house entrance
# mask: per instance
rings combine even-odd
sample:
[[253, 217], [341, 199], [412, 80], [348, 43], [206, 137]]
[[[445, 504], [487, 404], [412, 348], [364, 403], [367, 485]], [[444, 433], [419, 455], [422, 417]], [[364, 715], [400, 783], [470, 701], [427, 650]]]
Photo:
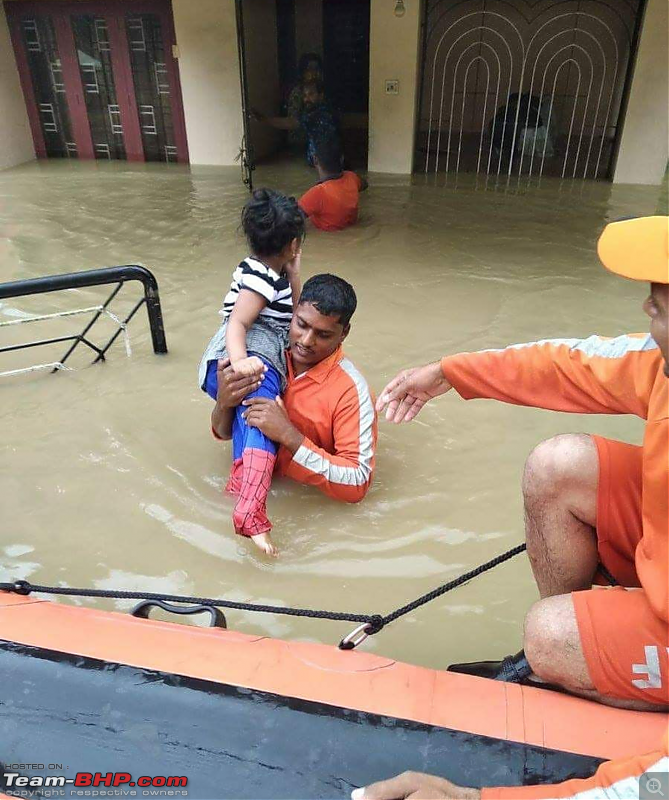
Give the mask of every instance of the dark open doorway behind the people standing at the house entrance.
[[[240, 52], [248, 97], [244, 153], [255, 163], [277, 157], [306, 160], [300, 130], [272, 129], [253, 119], [299, 119], [305, 55], [322, 62], [327, 102], [341, 127], [345, 163], [365, 168], [368, 148], [370, 0], [237, 0]], [[271, 38], [270, 38], [271, 37]], [[273, 40], [273, 41], [272, 41]]]

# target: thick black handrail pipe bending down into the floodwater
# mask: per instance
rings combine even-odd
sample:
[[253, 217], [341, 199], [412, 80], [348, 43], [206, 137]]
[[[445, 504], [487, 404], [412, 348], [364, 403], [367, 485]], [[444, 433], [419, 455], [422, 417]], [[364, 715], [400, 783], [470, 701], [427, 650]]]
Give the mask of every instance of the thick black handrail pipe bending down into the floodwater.
[[[153, 352], [157, 354], [167, 353], [163, 312], [160, 307], [160, 296], [158, 294], [158, 281], [150, 270], [138, 264], [104, 267], [102, 269], [87, 270], [86, 272], [68, 272], [64, 275], [47, 275], [43, 278], [28, 278], [23, 281], [0, 283], [0, 300], [6, 297], [44, 294], [45, 292], [57, 292], [63, 289], [103, 286], [108, 283], [117, 283], [120, 288], [120, 286], [127, 281], [139, 281], [144, 286], [144, 298], [141, 303], [146, 303], [149, 327], [151, 329], [151, 340], [153, 342]], [[105, 303], [105, 306], [106, 305]], [[133, 310], [131, 316], [136, 310], [137, 308]], [[98, 317], [99, 313], [86, 330], [90, 329]], [[129, 321], [129, 319], [126, 320], [126, 322], [127, 321]], [[86, 331], [84, 331], [84, 334], [85, 333]], [[114, 338], [116, 338], [116, 336]], [[106, 349], [107, 348], [104, 350], [106, 351]]]

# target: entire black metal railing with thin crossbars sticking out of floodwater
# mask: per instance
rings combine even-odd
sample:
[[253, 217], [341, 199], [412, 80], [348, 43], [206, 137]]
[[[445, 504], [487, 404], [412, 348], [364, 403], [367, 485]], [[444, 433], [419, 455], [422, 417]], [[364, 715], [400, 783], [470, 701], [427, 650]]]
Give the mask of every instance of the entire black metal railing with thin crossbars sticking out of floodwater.
[[[139, 281], [144, 287], [144, 295], [137, 301], [137, 303], [135, 303], [125, 318], [121, 319], [109, 310], [109, 306], [121, 291], [123, 285], [129, 281]], [[146, 305], [146, 311], [149, 318], [153, 352], [157, 354], [167, 353], [165, 327], [163, 325], [163, 313], [160, 306], [160, 296], [158, 294], [158, 282], [150, 270], [137, 264], [129, 264], [119, 267], [105, 267], [103, 269], [87, 270], [86, 272], [69, 272], [65, 275], [49, 275], [43, 278], [30, 278], [24, 281], [0, 283], [0, 300], [4, 300], [9, 297], [27, 297], [29, 295], [58, 292], [65, 289], [82, 289], [90, 286], [105, 286], [108, 284], [116, 285], [112, 289], [105, 302], [101, 305], [90, 306], [88, 308], [78, 308], [72, 311], [61, 311], [55, 314], [21, 317], [14, 320], [0, 322], [0, 328], [2, 328], [9, 327], [11, 325], [22, 325], [30, 322], [55, 319], [58, 317], [69, 317], [77, 314], [93, 314], [92, 318], [88, 321], [84, 329], [79, 334], [56, 336], [48, 339], [36, 339], [31, 342], [23, 342], [22, 344], [12, 344], [0, 347], [1, 354], [15, 350], [26, 350], [33, 347], [54, 345], [61, 342], [68, 343], [68, 348], [59, 361], [50, 362], [48, 364], [39, 364], [32, 367], [25, 367], [23, 369], [9, 370], [7, 372], [0, 372], [0, 377], [7, 375], [18, 375], [24, 372], [33, 372], [40, 369], [50, 369], [51, 372], [69, 369], [69, 367], [66, 366], [66, 362], [72, 356], [77, 347], [79, 347], [79, 345], [84, 345], [95, 353], [95, 358], [93, 359], [92, 363], [95, 364], [98, 361], [104, 361], [107, 351], [121, 334], [123, 334], [125, 337], [126, 350], [129, 353], [130, 345], [127, 337], [127, 325], [143, 305]], [[106, 344], [98, 347], [98, 345], [94, 344], [90, 340], [88, 334], [95, 323], [102, 316], [105, 316], [106, 318], [115, 322], [117, 328]]]

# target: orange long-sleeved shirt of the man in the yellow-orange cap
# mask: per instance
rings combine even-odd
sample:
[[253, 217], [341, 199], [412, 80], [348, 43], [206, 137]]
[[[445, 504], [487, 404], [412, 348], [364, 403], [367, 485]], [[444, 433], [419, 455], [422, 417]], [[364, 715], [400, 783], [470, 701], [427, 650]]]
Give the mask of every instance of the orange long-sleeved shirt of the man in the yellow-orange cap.
[[654, 613], [669, 621], [669, 379], [652, 337], [549, 339], [447, 356], [444, 377], [466, 400], [581, 414], [635, 414], [643, 439], [643, 535], [636, 572]]

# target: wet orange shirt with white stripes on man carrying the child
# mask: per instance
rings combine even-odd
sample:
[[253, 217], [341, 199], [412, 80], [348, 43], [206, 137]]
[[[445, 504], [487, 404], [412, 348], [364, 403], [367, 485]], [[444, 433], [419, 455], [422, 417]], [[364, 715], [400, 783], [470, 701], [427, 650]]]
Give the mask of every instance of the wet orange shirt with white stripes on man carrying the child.
[[276, 472], [315, 486], [345, 503], [367, 494], [374, 473], [377, 418], [367, 382], [339, 347], [296, 376], [287, 353], [283, 402], [290, 421], [304, 434], [293, 455], [279, 449]]

